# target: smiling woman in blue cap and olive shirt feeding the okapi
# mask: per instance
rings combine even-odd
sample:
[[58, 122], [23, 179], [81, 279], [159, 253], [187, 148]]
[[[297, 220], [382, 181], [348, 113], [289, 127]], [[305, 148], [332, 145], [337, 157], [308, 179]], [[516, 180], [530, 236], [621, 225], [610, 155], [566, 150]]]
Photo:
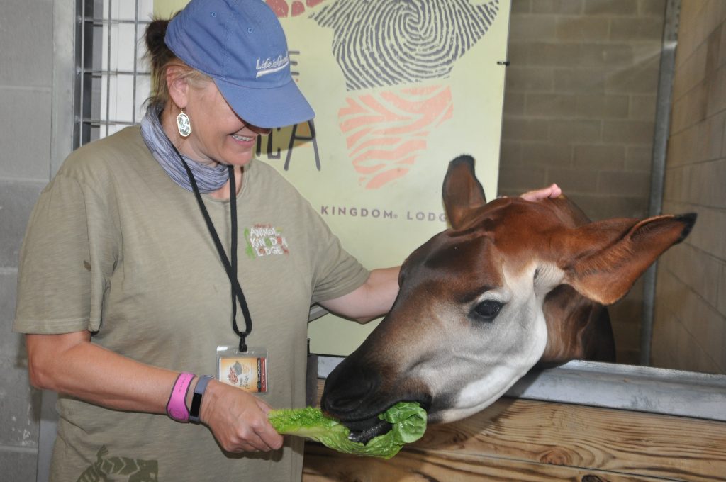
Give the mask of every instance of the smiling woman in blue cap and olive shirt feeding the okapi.
[[[260, 134], [313, 116], [264, 2], [192, 0], [147, 46], [141, 128], [69, 156], [21, 250], [15, 330], [31, 383], [60, 394], [51, 479], [299, 480], [302, 441], [266, 412], [304, 404], [309, 305], [379, 316], [398, 269], [364, 269], [253, 160]], [[223, 383], [229, 346], [264, 354], [266, 391]]]

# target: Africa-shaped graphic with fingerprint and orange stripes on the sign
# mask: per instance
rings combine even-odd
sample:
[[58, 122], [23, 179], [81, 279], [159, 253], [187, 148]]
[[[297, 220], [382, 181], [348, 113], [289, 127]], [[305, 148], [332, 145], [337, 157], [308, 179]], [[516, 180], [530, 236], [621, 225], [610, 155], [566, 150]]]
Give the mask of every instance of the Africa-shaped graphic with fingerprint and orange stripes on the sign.
[[366, 189], [407, 175], [433, 129], [452, 118], [446, 79], [491, 27], [499, 0], [266, 0], [278, 17], [333, 30], [345, 78], [338, 110], [351, 166]]

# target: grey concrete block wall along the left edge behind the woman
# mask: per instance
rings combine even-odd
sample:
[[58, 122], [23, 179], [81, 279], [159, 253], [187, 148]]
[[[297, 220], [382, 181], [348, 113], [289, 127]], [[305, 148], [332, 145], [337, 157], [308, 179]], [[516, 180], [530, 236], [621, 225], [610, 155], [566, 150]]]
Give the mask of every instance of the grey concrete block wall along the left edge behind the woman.
[[40, 393], [12, 332], [17, 255], [49, 181], [53, 2], [0, 2], [0, 480], [34, 481]]

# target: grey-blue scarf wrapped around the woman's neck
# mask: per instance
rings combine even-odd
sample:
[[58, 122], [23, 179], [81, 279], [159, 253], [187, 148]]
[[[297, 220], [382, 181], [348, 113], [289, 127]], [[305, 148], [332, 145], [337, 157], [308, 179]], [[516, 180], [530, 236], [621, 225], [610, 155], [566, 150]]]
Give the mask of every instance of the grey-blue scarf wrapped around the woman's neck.
[[[150, 105], [146, 110], [146, 115], [141, 121], [141, 136], [154, 158], [169, 177], [187, 191], [192, 191], [192, 184], [189, 182], [187, 170], [181, 163], [179, 156], [174, 152], [174, 146], [161, 127], [159, 114], [162, 108], [161, 105]], [[205, 166], [185, 155], [182, 157], [187, 161], [189, 169], [192, 170], [200, 192], [216, 191], [229, 181], [227, 166], [224, 166], [224, 164]]]

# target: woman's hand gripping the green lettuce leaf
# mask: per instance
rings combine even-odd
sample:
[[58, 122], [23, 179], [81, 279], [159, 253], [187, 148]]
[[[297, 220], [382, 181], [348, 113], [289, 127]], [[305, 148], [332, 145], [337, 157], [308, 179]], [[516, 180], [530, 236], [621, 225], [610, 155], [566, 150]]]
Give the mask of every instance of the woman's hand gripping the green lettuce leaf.
[[227, 452], [267, 452], [282, 447], [282, 436], [267, 420], [269, 410], [256, 396], [211, 380], [202, 399], [200, 420]]

